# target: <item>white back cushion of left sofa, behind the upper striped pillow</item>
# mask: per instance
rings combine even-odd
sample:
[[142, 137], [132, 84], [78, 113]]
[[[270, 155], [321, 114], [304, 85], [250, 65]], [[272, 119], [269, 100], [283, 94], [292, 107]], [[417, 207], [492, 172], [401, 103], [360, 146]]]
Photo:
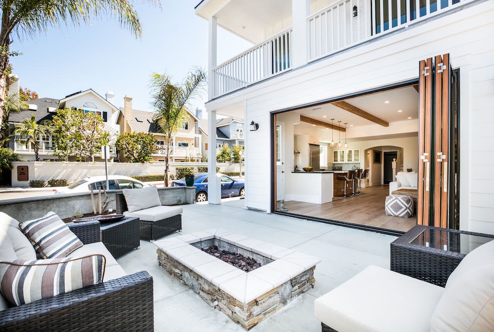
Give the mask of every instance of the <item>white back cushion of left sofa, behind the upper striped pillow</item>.
[[0, 230], [6, 232], [12, 242], [12, 248], [19, 259], [36, 259], [36, 251], [31, 241], [19, 229], [19, 222], [0, 212]]

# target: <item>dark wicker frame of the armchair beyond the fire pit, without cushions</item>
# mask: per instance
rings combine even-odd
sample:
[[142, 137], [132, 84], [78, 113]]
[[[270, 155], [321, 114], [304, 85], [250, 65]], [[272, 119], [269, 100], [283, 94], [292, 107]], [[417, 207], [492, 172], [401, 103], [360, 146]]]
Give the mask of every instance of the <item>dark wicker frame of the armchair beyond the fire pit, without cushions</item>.
[[[124, 194], [116, 193], [117, 214], [128, 210]], [[154, 241], [175, 231], [182, 230], [182, 215], [177, 214], [159, 221], [140, 221], [141, 239]]]

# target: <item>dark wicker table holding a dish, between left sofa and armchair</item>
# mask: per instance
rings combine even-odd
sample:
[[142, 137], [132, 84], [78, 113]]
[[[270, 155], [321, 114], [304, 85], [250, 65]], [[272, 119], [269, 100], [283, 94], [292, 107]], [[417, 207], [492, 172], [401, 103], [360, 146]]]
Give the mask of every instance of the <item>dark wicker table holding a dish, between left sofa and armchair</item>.
[[139, 218], [125, 217], [117, 222], [101, 223], [101, 242], [113, 257], [120, 257], [140, 246]]

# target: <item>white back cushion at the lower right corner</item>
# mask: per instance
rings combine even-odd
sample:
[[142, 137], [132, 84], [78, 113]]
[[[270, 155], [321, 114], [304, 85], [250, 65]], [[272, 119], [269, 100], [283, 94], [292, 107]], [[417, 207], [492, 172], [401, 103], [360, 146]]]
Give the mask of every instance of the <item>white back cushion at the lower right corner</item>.
[[494, 241], [465, 256], [448, 278], [431, 332], [494, 331]]

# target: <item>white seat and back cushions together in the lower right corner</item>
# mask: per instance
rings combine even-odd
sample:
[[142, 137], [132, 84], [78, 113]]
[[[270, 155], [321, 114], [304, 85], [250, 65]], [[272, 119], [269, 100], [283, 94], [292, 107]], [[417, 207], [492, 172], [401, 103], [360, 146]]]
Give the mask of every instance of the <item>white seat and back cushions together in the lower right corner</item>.
[[323, 332], [494, 331], [494, 241], [473, 250], [442, 288], [369, 266], [315, 300]]

